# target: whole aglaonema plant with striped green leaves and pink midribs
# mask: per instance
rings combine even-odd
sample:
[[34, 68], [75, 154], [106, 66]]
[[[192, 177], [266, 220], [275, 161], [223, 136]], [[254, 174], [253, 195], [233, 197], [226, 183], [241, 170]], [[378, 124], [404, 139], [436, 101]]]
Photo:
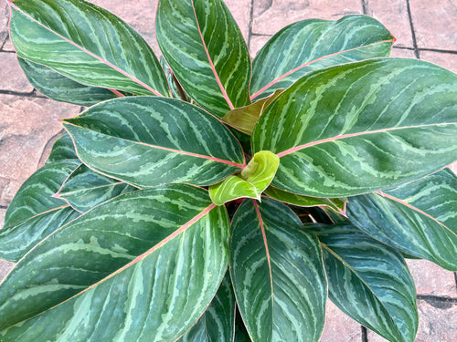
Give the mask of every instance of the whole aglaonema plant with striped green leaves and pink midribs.
[[0, 231], [1, 341], [317, 341], [327, 296], [413, 341], [405, 257], [457, 270], [457, 75], [375, 19], [252, 60], [219, 0], [160, 0], [159, 60], [79, 0], [16, 0], [27, 78], [88, 107]]

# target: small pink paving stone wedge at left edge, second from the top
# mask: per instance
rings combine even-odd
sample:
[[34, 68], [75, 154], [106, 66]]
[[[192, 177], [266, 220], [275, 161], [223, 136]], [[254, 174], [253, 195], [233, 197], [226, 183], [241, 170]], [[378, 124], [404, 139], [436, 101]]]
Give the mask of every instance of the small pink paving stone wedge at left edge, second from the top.
[[0, 89], [29, 93], [33, 86], [28, 82], [24, 71], [17, 62], [15, 53], [0, 52], [2, 61], [2, 77], [0, 78]]

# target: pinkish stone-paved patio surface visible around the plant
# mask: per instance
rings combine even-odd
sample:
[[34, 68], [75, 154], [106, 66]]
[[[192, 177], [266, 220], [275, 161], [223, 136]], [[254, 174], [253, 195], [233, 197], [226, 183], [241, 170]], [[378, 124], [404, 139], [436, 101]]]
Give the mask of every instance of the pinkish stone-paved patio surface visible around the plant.
[[[121, 16], [159, 53], [154, 36], [157, 0], [93, 0]], [[394, 57], [427, 60], [457, 72], [457, 0], [226, 0], [254, 57], [270, 36], [297, 20], [335, 20], [365, 14], [380, 20], [397, 42]], [[79, 106], [55, 102], [27, 81], [8, 36], [9, 9], [0, 0], [0, 223], [19, 186], [48, 157], [62, 128], [57, 119], [74, 117]], [[453, 165], [453, 171], [457, 170]], [[457, 341], [457, 275], [427, 261], [409, 261], [416, 281], [418, 342]], [[0, 278], [13, 264], [0, 261]], [[323, 342], [380, 342], [328, 303]]]

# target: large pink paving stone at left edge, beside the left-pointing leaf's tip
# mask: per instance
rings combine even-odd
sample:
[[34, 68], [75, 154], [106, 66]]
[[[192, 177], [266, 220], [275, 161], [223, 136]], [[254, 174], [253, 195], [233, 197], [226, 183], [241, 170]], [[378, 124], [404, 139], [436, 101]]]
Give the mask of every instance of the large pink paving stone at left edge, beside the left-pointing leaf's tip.
[[0, 206], [37, 170], [43, 149], [61, 125], [57, 119], [78, 115], [79, 106], [48, 98], [0, 95]]

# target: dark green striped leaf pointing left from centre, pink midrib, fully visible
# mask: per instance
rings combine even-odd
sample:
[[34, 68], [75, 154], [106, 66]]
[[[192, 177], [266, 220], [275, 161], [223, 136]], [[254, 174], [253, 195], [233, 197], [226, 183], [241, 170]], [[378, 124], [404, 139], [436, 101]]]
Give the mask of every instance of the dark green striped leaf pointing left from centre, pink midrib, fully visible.
[[115, 98], [63, 123], [81, 161], [139, 187], [209, 185], [244, 167], [229, 130], [203, 109], [175, 98]]

